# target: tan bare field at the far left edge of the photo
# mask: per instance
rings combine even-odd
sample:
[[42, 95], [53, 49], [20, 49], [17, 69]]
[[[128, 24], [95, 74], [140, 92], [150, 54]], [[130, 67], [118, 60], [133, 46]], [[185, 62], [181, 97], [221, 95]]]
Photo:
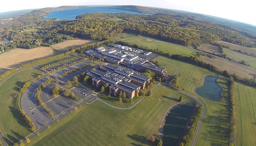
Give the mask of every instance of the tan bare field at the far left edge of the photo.
[[37, 47], [34, 49], [14, 49], [0, 55], [0, 74], [22, 63], [53, 54], [51, 47]]

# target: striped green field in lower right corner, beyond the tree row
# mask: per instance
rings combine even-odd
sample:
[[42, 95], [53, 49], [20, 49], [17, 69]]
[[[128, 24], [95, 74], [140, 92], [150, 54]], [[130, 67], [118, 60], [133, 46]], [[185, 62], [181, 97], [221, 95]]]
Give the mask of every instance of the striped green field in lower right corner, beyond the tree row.
[[245, 84], [234, 84], [236, 95], [236, 145], [256, 145], [256, 88]]

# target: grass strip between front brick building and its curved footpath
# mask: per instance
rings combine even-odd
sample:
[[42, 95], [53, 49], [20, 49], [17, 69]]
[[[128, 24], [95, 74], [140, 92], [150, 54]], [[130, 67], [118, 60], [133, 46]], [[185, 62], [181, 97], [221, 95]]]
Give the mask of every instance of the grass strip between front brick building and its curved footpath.
[[[156, 83], [157, 84], [157, 83]], [[154, 88], [154, 87], [153, 87]], [[149, 88], [145, 88], [144, 89], [145, 92], [147, 93]], [[153, 93], [154, 93], [155, 90], [153, 90]], [[142, 97], [144, 96], [138, 96], [138, 97], [133, 97], [133, 102], [130, 103], [130, 99], [129, 98], [123, 98], [123, 102], [122, 103], [119, 103], [119, 97], [115, 97], [114, 95], [111, 95], [110, 94], [110, 98], [108, 97], [109, 93], [100, 93], [100, 94], [97, 94], [97, 97], [99, 97], [102, 101], [110, 104], [110, 105], [113, 105], [113, 106], [116, 106], [116, 107], [120, 107], [120, 108], [128, 108], [128, 107], [131, 107], [132, 105], [134, 105], [137, 101], [139, 101]]]

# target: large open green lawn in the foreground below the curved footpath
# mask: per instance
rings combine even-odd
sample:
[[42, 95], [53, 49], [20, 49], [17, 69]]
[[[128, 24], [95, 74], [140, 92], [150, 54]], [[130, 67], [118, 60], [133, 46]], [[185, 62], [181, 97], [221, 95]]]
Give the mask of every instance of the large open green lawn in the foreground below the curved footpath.
[[83, 105], [78, 112], [67, 115], [27, 145], [153, 145], [149, 137], [159, 135], [164, 113], [177, 104], [181, 96], [162, 85], [154, 91], [152, 97], [146, 97], [129, 110], [114, 109], [100, 101]]

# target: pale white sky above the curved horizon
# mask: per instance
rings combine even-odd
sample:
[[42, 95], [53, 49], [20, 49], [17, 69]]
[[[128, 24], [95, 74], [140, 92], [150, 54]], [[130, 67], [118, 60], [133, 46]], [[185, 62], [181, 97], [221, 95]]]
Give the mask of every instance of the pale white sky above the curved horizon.
[[256, 25], [255, 0], [2, 0], [0, 12], [74, 5], [139, 5], [190, 11]]

